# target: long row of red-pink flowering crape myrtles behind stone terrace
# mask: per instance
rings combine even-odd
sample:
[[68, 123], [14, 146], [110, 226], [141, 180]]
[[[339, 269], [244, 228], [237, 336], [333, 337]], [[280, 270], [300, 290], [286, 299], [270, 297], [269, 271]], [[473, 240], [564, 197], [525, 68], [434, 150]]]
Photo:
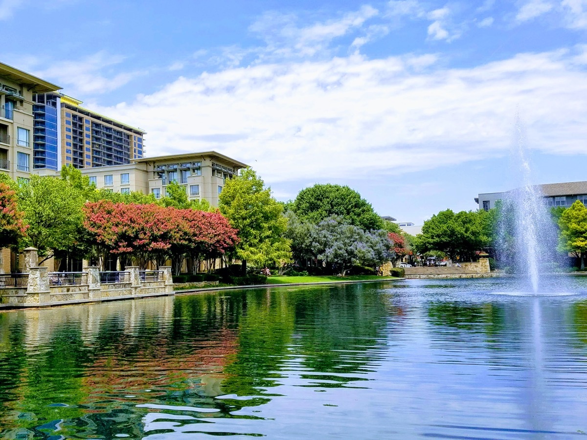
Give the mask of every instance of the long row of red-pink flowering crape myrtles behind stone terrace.
[[177, 275], [186, 258], [215, 259], [238, 243], [237, 230], [218, 212], [106, 200], [88, 202], [83, 211], [87, 239], [101, 267], [109, 254], [122, 266], [134, 258], [143, 269], [150, 261], [158, 267], [171, 259]]

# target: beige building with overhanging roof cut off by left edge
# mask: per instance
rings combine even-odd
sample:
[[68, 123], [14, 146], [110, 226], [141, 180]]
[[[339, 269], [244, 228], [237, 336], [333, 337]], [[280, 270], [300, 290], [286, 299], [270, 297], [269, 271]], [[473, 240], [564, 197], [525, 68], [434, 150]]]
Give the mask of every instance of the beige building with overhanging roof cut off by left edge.
[[29, 177], [35, 157], [33, 95], [60, 88], [0, 63], [0, 172], [14, 180]]

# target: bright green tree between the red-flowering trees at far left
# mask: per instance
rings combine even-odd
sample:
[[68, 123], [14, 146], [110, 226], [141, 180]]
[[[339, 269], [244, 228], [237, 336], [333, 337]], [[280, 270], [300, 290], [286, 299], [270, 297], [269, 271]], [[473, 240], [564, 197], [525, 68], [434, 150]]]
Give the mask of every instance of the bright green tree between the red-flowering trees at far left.
[[86, 199], [68, 180], [31, 175], [18, 192], [19, 208], [29, 225], [26, 246], [39, 249], [39, 255], [64, 258], [82, 252], [82, 207]]

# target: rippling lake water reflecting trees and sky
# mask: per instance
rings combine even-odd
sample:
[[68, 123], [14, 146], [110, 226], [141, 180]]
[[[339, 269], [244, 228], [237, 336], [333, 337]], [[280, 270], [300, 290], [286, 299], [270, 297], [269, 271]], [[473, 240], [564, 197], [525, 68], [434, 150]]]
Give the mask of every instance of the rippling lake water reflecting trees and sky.
[[578, 438], [587, 277], [545, 288], [407, 280], [0, 313], [0, 437]]

